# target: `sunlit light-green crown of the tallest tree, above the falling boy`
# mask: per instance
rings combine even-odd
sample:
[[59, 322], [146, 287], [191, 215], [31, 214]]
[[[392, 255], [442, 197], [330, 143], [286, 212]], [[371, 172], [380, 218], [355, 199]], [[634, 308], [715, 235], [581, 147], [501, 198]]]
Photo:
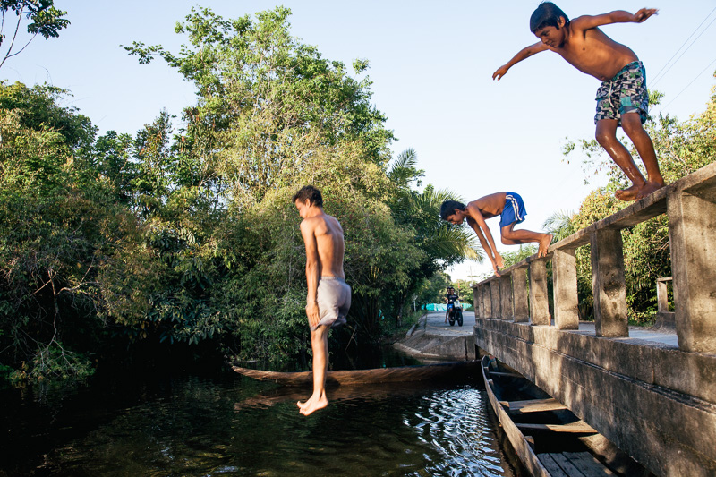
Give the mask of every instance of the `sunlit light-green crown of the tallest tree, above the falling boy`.
[[[162, 57], [196, 84], [187, 132], [193, 141], [201, 136], [195, 152], [216, 166], [232, 200], [259, 201], [296, 174], [310, 175], [318, 151], [350, 147], [363, 163], [388, 160], [393, 135], [371, 106], [371, 81], [354, 80], [344, 64], [292, 38], [289, 15], [278, 7], [257, 13], [256, 22], [226, 21], [196, 8], [177, 25], [189, 39], [179, 54], [140, 42], [125, 47], [141, 63]], [[354, 62], [355, 73], [367, 66]], [[360, 175], [352, 179], [361, 183]]]

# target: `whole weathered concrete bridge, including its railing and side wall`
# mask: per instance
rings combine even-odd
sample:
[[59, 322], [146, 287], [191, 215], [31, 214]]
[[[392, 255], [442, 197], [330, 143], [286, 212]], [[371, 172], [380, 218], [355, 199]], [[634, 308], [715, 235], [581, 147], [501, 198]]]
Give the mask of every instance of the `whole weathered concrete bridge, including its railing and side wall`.
[[[620, 232], [664, 213], [677, 337], [670, 342], [629, 336]], [[591, 328], [580, 327], [577, 314], [575, 250], [586, 244]], [[547, 257], [534, 255], [473, 285], [473, 299], [476, 347], [523, 373], [652, 473], [716, 475], [716, 164], [551, 245]]]

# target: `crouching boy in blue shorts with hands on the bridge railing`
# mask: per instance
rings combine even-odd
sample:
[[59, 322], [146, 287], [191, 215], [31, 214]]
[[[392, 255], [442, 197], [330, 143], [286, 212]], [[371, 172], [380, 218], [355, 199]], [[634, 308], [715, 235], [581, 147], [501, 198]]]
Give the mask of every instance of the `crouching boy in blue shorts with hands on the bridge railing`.
[[[547, 255], [547, 248], [552, 242], [552, 234], [542, 234], [531, 230], [515, 230], [516, 224], [524, 222], [527, 211], [524, 209], [522, 197], [515, 192], [495, 192], [478, 200], [473, 200], [466, 206], [457, 200], [446, 200], [440, 206], [440, 217], [451, 224], [459, 226], [467, 219], [467, 225], [473, 227], [480, 240], [482, 250], [492, 262], [495, 275], [499, 277], [499, 268], [504, 266], [495, 241], [492, 239], [490, 229], [485, 224], [486, 218], [499, 216], [499, 234], [502, 243], [518, 245], [520, 243], [536, 242], [540, 244], [537, 252], [539, 257]], [[485, 240], [487, 238], [487, 240]]]

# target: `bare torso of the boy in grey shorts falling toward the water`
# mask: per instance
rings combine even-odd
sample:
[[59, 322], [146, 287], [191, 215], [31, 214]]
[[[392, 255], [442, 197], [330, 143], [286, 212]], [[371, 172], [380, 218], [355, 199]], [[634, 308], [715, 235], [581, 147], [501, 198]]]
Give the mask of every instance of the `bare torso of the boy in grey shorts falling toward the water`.
[[343, 228], [337, 218], [322, 214], [304, 219], [302, 226], [308, 226], [316, 239], [319, 276], [345, 278], [343, 271], [345, 243]]

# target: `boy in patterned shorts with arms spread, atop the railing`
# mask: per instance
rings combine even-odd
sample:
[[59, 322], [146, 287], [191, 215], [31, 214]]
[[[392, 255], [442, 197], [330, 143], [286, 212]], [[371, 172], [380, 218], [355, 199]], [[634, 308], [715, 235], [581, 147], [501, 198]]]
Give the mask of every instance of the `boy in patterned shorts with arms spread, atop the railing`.
[[[616, 192], [619, 200], [642, 199], [663, 187], [664, 180], [659, 172], [652, 139], [642, 126], [649, 99], [644, 65], [631, 49], [609, 38], [598, 27], [610, 23], [641, 23], [656, 12], [653, 8], [642, 8], [634, 14], [615, 11], [584, 15], [570, 21], [557, 5], [545, 2], [530, 18], [530, 30], [540, 41], [519, 51], [492, 74], [492, 79], [499, 81], [514, 64], [550, 50], [561, 55], [580, 72], [601, 80], [601, 87], [597, 90], [597, 114], [594, 116], [596, 138], [632, 182], [631, 187]], [[619, 125], [644, 162], [646, 180], [629, 151], [617, 139]]]

